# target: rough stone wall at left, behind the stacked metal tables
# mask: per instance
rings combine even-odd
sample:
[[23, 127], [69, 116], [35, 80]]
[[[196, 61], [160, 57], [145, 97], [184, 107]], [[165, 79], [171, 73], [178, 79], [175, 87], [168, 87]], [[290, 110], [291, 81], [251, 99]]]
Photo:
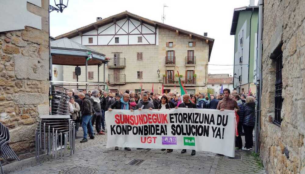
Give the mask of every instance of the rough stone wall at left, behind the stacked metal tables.
[[0, 33], [0, 122], [9, 127], [10, 145], [21, 159], [34, 150], [38, 116], [49, 113], [48, 0], [41, 5], [27, 3], [27, 10], [41, 16], [42, 30]]

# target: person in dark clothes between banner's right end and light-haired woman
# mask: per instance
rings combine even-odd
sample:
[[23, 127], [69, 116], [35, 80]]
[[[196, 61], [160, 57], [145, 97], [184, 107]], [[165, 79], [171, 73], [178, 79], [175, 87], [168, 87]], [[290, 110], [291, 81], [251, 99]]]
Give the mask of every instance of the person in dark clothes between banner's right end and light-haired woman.
[[237, 112], [237, 115], [239, 116], [239, 122], [237, 125], [238, 136], [235, 138], [235, 149], [242, 150], [241, 133], [242, 133], [242, 122], [244, 120], [244, 106], [242, 105], [242, 102], [240, 101], [239, 94], [233, 94], [232, 98], [237, 102], [237, 105], [239, 107], [239, 112]]

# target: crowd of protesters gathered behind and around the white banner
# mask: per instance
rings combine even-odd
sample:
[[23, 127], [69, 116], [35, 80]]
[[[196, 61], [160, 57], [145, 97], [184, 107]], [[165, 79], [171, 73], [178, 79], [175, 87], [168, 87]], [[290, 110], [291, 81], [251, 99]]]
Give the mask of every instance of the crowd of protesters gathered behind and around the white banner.
[[[253, 147], [253, 129], [255, 125], [255, 97], [250, 94], [237, 94], [237, 91], [230, 93], [229, 89], [224, 89], [220, 94], [185, 94], [169, 92], [168, 94], [154, 94], [150, 91], [135, 93], [126, 90], [108, 93], [102, 90], [91, 91], [68, 91], [70, 96], [69, 111], [71, 119], [76, 122], [76, 131], [81, 125], [84, 136], [81, 143], [87, 142], [87, 134], [90, 139], [94, 139], [93, 126], [97, 135], [105, 135], [105, 111], [112, 109], [142, 110], [142, 109], [171, 109], [171, 108], [199, 108], [218, 109], [220, 111], [235, 110], [239, 115], [238, 133], [235, 139], [236, 150], [250, 150]], [[181, 100], [183, 102], [181, 102]], [[244, 133], [243, 133], [244, 131]], [[241, 135], [245, 135], [245, 146], [242, 147]], [[118, 150], [119, 147], [115, 147]], [[129, 147], [124, 147], [130, 151]], [[137, 148], [141, 149], [141, 148]], [[150, 150], [150, 149], [147, 149]], [[166, 149], [161, 149], [165, 151]], [[167, 152], [172, 152], [167, 149]], [[183, 149], [181, 153], [186, 153]], [[192, 150], [192, 155], [196, 154]]]

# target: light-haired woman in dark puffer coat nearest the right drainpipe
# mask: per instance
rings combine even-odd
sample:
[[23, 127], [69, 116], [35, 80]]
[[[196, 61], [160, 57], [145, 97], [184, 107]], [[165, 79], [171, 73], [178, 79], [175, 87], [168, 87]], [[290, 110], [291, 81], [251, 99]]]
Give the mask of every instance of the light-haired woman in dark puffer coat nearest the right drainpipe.
[[255, 101], [254, 97], [248, 96], [244, 104], [244, 120], [242, 127], [245, 131], [245, 147], [242, 150], [249, 151], [253, 146], [253, 129], [255, 126]]

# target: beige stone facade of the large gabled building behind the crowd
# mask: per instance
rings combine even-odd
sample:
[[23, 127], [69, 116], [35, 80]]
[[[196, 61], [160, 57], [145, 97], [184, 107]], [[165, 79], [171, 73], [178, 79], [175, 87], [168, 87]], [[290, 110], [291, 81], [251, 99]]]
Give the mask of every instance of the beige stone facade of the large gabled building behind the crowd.
[[[195, 47], [188, 47], [189, 41], [196, 41]], [[166, 47], [166, 42], [173, 42], [173, 47]], [[176, 32], [159, 27], [159, 45], [129, 45], [129, 46], [88, 46], [96, 51], [106, 55], [106, 57], [113, 58], [114, 53], [120, 53], [120, 58], [126, 58], [126, 67], [120, 69], [120, 74], [126, 74], [125, 85], [109, 86], [109, 89], [117, 89], [119, 91], [139, 89], [140, 83], [143, 83], [143, 89], [151, 91], [152, 83], [154, 83], [154, 92], [161, 93], [163, 74], [166, 70], [177, 70], [185, 77], [185, 70], [195, 70], [196, 86], [185, 85], [186, 89], [194, 89], [196, 92], [207, 92], [207, 64], [209, 55], [209, 45], [206, 41], [200, 39], [190, 39], [185, 34], [177, 35]], [[167, 50], [175, 50], [176, 65], [165, 66], [165, 56]], [[185, 56], [188, 50], [194, 50], [196, 56], [196, 66], [185, 66]], [[143, 53], [143, 60], [137, 60], [137, 52]], [[107, 67], [107, 66], [106, 66]], [[73, 79], [73, 71], [75, 66], [63, 67], [63, 80], [76, 81]], [[159, 83], [157, 69], [160, 69]], [[88, 71], [94, 72], [94, 79], [89, 82], [97, 82], [97, 66], [88, 66]], [[143, 71], [143, 79], [137, 79], [137, 71]], [[81, 76], [79, 81], [85, 81], [85, 67], [81, 66]], [[103, 66], [100, 67], [100, 82], [103, 82]], [[113, 69], [106, 68], [106, 80], [108, 73], [113, 74]], [[174, 85], [165, 86], [164, 89], [174, 91]], [[179, 86], [176, 87], [177, 92], [180, 93]]]

